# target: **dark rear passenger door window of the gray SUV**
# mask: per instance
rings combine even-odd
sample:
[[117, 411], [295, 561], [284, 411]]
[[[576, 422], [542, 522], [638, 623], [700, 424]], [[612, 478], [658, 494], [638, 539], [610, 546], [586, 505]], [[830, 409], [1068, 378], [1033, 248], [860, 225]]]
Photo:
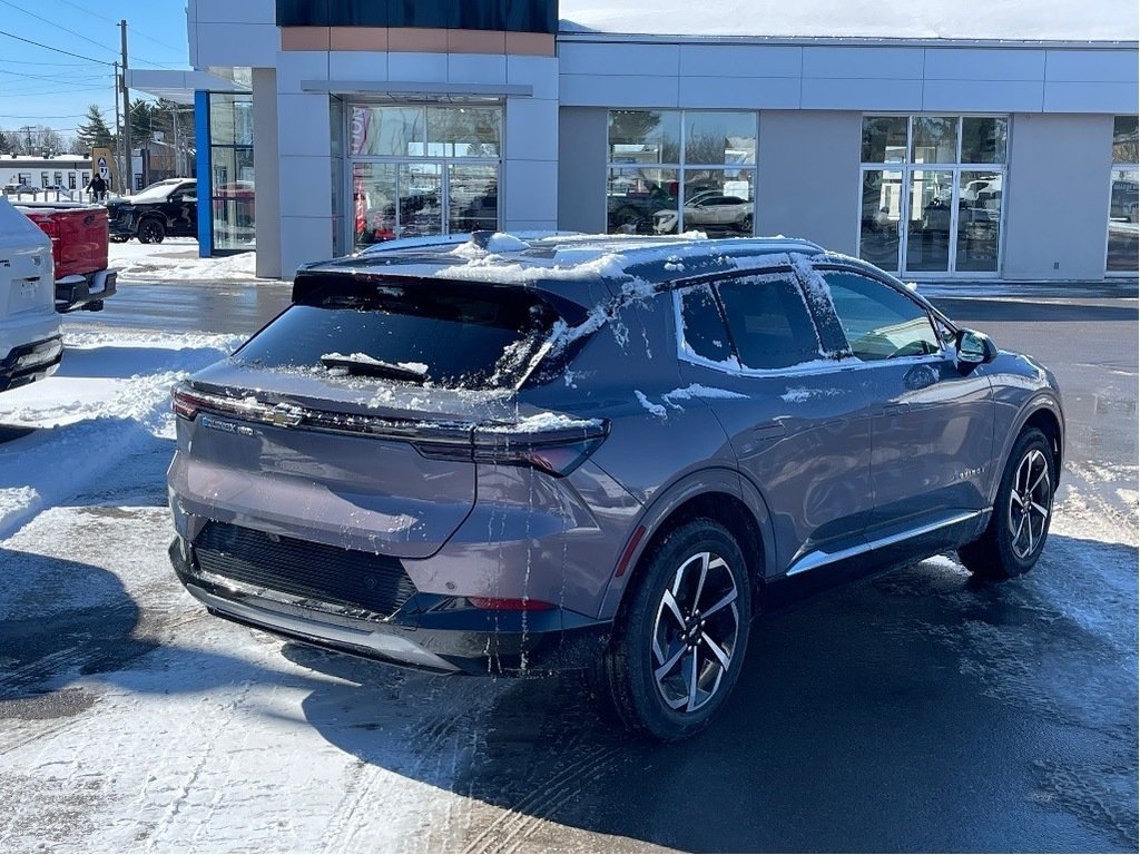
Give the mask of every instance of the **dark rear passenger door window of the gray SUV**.
[[821, 358], [815, 325], [790, 272], [732, 279], [717, 291], [744, 367], [787, 368]]

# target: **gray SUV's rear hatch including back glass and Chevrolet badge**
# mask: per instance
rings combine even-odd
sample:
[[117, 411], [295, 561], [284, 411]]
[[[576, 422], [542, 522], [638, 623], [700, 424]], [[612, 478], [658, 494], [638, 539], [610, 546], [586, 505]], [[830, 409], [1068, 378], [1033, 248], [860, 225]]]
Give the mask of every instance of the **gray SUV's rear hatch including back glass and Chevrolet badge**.
[[477, 447], [520, 421], [515, 390], [559, 311], [520, 287], [329, 274], [294, 299], [176, 390], [177, 500], [277, 535], [433, 554], [475, 503]]

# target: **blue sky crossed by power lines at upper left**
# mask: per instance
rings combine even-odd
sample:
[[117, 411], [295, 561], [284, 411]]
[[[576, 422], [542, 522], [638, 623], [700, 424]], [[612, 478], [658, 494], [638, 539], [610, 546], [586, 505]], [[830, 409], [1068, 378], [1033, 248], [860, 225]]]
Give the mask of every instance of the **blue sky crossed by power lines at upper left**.
[[132, 68], [188, 67], [186, 0], [0, 0], [0, 130], [48, 125], [74, 136], [91, 104], [113, 127], [111, 63], [123, 18]]

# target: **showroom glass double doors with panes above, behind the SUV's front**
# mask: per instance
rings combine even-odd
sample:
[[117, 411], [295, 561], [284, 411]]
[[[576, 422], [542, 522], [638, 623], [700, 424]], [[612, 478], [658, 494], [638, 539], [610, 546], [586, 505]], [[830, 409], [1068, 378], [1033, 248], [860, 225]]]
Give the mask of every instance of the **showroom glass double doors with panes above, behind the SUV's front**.
[[1002, 116], [864, 116], [860, 256], [996, 274], [1008, 136]]

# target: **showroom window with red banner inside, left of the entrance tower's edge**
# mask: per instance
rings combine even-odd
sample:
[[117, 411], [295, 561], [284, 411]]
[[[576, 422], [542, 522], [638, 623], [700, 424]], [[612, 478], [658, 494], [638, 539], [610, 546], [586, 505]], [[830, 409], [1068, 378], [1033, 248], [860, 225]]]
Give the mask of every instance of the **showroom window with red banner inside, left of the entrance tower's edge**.
[[353, 105], [356, 246], [498, 228], [499, 106]]

